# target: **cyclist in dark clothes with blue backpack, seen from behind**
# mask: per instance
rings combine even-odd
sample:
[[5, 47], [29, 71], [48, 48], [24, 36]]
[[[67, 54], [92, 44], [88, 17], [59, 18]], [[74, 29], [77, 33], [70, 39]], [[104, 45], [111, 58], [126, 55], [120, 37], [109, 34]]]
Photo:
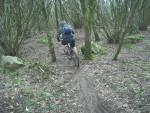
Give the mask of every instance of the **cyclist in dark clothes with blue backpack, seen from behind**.
[[77, 49], [75, 47], [74, 30], [72, 26], [67, 24], [65, 21], [61, 21], [59, 23], [57, 40], [61, 41], [62, 45], [64, 46], [69, 43], [70, 47], [77, 52]]

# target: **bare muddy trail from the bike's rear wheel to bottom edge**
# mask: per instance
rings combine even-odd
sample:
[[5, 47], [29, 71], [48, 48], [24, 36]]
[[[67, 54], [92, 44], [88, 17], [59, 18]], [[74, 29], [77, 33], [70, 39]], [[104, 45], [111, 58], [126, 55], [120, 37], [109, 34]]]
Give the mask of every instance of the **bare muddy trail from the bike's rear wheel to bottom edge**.
[[88, 80], [89, 65], [85, 65], [75, 74], [74, 86], [79, 85], [80, 103], [83, 105], [83, 113], [110, 113], [108, 109], [101, 103], [97, 92], [94, 90], [93, 81]]

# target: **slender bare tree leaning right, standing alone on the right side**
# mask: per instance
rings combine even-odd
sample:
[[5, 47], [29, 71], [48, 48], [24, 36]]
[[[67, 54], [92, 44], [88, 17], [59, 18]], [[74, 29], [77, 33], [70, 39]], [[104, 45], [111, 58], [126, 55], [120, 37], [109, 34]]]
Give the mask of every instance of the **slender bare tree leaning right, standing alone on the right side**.
[[124, 41], [124, 37], [126, 35], [126, 33], [128, 32], [129, 26], [130, 24], [132, 24], [131, 22], [133, 21], [132, 19], [134, 18], [136, 12], [138, 12], [138, 9], [142, 6], [143, 2], [141, 0], [134, 0], [134, 1], [124, 1], [122, 4], [124, 7], [121, 7], [124, 12], [126, 12], [126, 17], [122, 17], [122, 23], [121, 24], [121, 28], [120, 28], [120, 32], [119, 32], [119, 46], [117, 48], [117, 51], [113, 57], [113, 60], [117, 60], [117, 57], [121, 51], [122, 45], [123, 45], [123, 41]]

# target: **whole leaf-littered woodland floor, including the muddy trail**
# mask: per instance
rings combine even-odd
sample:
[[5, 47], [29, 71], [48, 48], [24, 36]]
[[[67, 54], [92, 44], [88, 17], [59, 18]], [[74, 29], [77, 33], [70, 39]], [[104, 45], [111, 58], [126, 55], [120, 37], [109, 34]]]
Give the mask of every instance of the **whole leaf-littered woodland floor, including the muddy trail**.
[[[102, 43], [106, 54], [81, 60], [75, 68], [56, 42], [52, 64], [44, 34], [28, 39], [21, 50], [26, 66], [0, 74], [0, 113], [150, 113], [150, 32], [126, 44], [118, 61], [116, 45]], [[77, 30], [77, 47], [84, 40]]]

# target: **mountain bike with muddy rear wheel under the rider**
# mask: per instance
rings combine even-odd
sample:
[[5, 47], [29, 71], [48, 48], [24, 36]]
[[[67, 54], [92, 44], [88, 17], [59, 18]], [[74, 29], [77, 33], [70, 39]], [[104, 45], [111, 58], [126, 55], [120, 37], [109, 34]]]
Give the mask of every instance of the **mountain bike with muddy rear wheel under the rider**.
[[75, 66], [80, 66], [77, 50], [73, 49], [69, 43], [65, 46], [64, 53], [68, 56], [69, 60], [73, 61]]

